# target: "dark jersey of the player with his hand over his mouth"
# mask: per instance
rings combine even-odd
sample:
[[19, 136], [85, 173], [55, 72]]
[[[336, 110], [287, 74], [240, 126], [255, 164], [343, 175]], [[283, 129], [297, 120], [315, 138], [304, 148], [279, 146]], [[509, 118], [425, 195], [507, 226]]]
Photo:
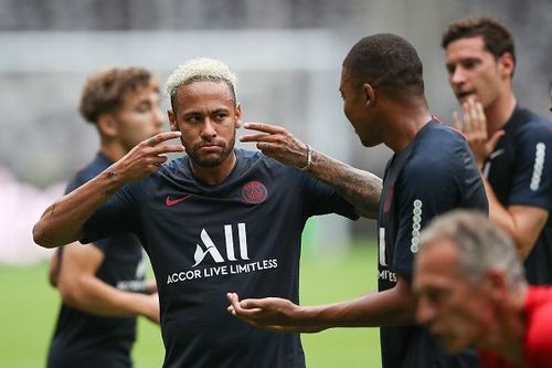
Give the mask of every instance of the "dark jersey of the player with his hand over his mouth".
[[[505, 136], [484, 165], [505, 207], [530, 206], [552, 211], [552, 124], [519, 106], [506, 123]], [[552, 284], [552, 219], [523, 263], [530, 284]]]

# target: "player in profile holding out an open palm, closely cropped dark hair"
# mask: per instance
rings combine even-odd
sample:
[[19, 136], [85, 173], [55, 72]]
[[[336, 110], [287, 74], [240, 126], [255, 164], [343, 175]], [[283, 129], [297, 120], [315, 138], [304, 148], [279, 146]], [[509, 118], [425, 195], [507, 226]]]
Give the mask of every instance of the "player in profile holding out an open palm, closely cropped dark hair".
[[[362, 145], [393, 149], [379, 208], [379, 292], [354, 301], [298, 306], [283, 298], [238, 301], [229, 311], [253, 325], [295, 332], [381, 327], [384, 368], [476, 367], [475, 351], [446, 357], [415, 323], [411, 290], [420, 231], [455, 208], [487, 210], [485, 189], [466, 141], [432, 117], [422, 62], [393, 34], [360, 40], [342, 64], [343, 109]], [[247, 297], [247, 296], [245, 296]]]

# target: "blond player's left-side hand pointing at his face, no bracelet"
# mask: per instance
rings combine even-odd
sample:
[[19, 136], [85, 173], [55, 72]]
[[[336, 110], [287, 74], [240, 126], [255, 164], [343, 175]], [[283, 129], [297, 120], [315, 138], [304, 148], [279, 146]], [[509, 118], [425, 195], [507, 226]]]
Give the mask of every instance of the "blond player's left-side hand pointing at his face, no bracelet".
[[167, 161], [167, 154], [182, 153], [184, 146], [163, 145], [162, 143], [181, 136], [180, 132], [164, 132], [142, 140], [125, 157], [115, 162], [109, 171], [120, 177], [123, 182], [142, 179], [157, 171]]

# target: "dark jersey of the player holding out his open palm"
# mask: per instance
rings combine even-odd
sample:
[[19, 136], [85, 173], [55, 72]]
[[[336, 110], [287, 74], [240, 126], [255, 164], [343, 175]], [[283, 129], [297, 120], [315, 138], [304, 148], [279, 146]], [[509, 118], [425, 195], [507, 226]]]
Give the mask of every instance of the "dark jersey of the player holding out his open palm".
[[[469, 147], [456, 130], [428, 122], [385, 168], [379, 211], [379, 290], [412, 278], [421, 230], [452, 209], [488, 210]], [[383, 368], [477, 367], [476, 351], [446, 357], [422, 326], [382, 327]]]

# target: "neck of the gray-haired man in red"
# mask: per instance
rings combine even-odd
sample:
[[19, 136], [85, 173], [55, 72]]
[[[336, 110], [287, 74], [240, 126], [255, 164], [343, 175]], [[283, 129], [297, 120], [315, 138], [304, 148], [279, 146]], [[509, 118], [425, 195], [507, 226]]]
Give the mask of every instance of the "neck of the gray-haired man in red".
[[484, 338], [476, 345], [492, 351], [516, 367], [524, 366], [524, 305], [527, 287], [513, 291], [508, 298], [496, 307], [496, 324], [489, 327]]

